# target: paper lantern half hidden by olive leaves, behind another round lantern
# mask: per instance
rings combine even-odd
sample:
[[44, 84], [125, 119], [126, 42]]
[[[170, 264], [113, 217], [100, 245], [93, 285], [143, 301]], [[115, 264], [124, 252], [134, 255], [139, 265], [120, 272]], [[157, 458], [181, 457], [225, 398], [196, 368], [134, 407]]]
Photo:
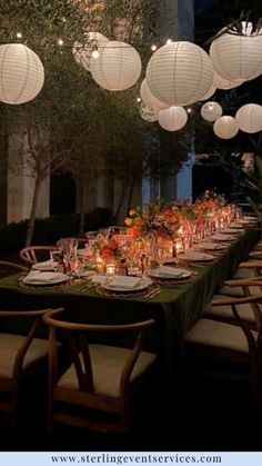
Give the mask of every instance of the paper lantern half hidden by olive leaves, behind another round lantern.
[[84, 32], [84, 43], [74, 42], [72, 52], [78, 65], [90, 71], [92, 51], [109, 42], [109, 39], [100, 32]]

